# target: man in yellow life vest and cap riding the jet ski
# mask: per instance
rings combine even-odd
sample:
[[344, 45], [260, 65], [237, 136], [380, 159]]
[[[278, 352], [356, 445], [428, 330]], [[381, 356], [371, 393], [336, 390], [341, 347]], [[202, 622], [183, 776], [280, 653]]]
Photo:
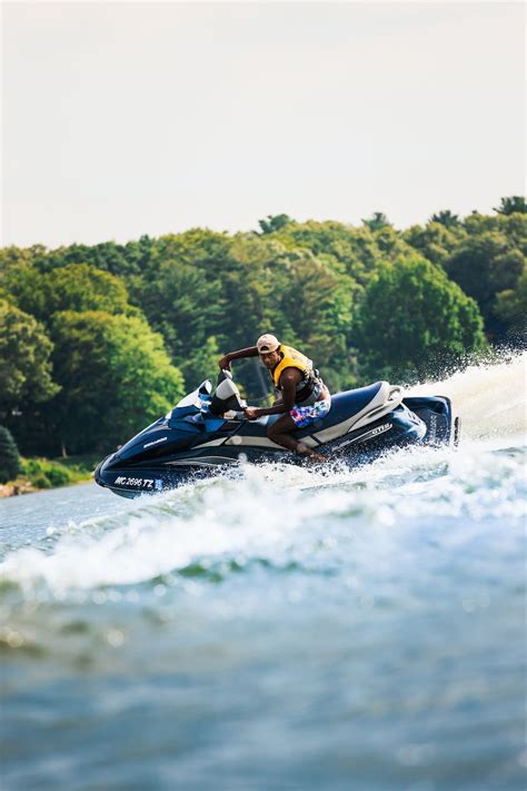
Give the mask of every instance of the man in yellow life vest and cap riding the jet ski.
[[257, 356], [269, 370], [278, 397], [269, 408], [246, 408], [247, 419], [280, 415], [277, 421], [267, 425], [269, 439], [314, 462], [326, 462], [327, 456], [316, 453], [291, 436], [296, 428], [311, 425], [325, 417], [331, 408], [329, 390], [318, 370], [314, 369], [312, 362], [292, 346], [285, 346], [274, 335], [266, 334], [258, 338], [256, 346], [226, 354], [219, 366], [223, 370], [230, 370], [233, 359]]

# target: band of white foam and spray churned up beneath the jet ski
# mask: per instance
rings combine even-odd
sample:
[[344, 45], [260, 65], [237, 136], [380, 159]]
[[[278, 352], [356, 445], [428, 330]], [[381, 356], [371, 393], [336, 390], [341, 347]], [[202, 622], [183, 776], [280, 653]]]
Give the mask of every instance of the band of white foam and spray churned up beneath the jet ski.
[[521, 355], [416, 388], [453, 398], [465, 428], [455, 452], [415, 447], [356, 471], [339, 464], [322, 469], [246, 465], [241, 479], [220, 476], [123, 503], [107, 517], [59, 525], [44, 548], [10, 552], [0, 581], [29, 595], [42, 584], [63, 595], [70, 589], [137, 584], [226, 556], [280, 563], [291, 546], [306, 541], [309, 525], [342, 515], [350, 531], [358, 524], [374, 530], [439, 515], [519, 520], [525, 515], [518, 456], [525, 360]]

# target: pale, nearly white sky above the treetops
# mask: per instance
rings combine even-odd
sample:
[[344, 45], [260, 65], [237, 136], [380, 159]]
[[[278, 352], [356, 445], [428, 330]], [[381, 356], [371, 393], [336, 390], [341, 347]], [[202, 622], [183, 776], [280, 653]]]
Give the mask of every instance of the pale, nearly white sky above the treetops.
[[525, 192], [520, 2], [4, 2], [2, 245]]

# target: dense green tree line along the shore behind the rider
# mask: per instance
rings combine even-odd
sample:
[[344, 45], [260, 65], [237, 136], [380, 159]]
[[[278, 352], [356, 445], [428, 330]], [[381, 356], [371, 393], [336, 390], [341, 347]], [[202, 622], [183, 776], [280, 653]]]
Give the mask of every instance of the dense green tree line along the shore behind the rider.
[[[110, 451], [167, 412], [222, 353], [272, 332], [330, 389], [410, 382], [523, 343], [526, 204], [445, 210], [397, 230], [269, 216], [126, 245], [0, 250], [0, 424], [26, 454]], [[268, 389], [256, 360], [236, 375]]]

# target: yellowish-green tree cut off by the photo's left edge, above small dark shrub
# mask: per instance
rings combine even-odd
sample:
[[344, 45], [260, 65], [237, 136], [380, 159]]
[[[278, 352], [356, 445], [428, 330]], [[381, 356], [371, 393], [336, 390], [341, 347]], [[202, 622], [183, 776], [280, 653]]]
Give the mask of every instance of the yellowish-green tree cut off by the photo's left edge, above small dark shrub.
[[0, 413], [51, 398], [52, 343], [32, 316], [0, 299]]

